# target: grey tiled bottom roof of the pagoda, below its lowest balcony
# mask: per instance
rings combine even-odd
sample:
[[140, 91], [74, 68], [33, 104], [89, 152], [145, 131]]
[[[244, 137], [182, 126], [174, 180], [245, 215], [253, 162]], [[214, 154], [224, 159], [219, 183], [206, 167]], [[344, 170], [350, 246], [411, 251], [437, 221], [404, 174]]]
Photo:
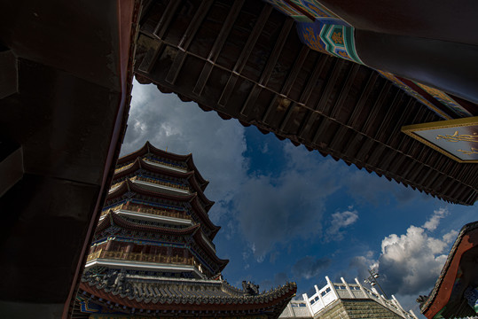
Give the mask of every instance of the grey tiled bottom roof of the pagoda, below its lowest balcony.
[[[223, 280], [174, 279], [152, 276], [86, 275], [80, 285], [82, 295], [110, 309], [124, 313], [174, 315], [180, 311], [207, 311], [268, 315], [292, 299], [296, 285], [289, 283], [269, 292], [250, 294]], [[107, 302], [106, 302], [107, 300]]]

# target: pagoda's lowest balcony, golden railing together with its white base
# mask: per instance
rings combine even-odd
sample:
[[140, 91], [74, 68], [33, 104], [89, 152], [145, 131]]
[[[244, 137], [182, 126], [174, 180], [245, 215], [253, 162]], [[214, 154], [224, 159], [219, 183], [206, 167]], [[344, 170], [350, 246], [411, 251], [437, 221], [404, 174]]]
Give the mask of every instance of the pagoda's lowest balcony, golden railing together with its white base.
[[192, 271], [204, 277], [203, 267], [194, 257], [168, 256], [154, 253], [126, 253], [106, 251], [90, 253], [85, 268], [92, 266], [114, 266], [138, 270]]

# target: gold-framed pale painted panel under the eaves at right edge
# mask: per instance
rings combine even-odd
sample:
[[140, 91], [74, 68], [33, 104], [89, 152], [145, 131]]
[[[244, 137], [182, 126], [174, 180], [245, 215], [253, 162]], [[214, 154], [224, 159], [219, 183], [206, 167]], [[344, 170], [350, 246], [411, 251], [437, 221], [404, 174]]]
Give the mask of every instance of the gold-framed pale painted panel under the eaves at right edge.
[[402, 131], [460, 163], [478, 163], [478, 116], [409, 125]]

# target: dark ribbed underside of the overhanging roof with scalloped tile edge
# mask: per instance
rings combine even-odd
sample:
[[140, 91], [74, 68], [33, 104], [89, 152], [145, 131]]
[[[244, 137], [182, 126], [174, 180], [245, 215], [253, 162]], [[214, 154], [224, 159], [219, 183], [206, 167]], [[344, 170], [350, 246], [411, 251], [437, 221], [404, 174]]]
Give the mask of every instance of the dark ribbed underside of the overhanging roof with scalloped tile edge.
[[446, 201], [478, 196], [478, 165], [400, 131], [435, 113], [372, 69], [311, 51], [269, 4], [155, 1], [137, 43], [139, 82]]

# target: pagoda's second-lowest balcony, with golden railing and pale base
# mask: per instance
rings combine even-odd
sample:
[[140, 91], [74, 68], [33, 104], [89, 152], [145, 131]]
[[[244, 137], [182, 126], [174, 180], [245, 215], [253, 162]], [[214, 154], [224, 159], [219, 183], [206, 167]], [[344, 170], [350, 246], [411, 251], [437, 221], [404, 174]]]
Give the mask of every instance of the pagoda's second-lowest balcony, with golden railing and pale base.
[[[192, 225], [192, 218], [185, 212], [171, 212], [155, 207], [144, 207], [134, 204], [121, 204], [112, 208], [116, 214], [144, 221], [164, 222], [173, 225]], [[99, 220], [103, 220], [109, 210], [101, 212]]]

